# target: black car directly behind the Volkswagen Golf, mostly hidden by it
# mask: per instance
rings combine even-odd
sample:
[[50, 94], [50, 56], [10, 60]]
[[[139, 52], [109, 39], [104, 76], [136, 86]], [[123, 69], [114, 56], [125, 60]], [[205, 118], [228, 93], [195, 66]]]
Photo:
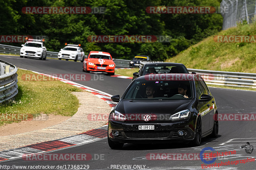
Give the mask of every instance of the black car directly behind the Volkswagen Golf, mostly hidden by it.
[[[148, 63], [141, 67], [141, 69], [138, 72], [133, 73], [133, 78], [136, 79], [137, 77], [140, 77], [142, 75], [146, 74], [165, 74], [165, 73], [186, 73], [188, 74], [188, 70], [184, 64], [181, 63], [168, 63], [168, 62], [162, 62], [162, 63]], [[196, 74], [192, 72], [192, 74]]]

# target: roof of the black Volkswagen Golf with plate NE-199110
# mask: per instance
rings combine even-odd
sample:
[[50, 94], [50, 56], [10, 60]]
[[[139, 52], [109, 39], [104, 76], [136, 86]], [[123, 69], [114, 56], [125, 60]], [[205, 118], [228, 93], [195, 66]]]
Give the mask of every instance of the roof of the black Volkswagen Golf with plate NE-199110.
[[[168, 78], [165, 79], [165, 77], [168, 77]], [[149, 74], [149, 75], [142, 75], [136, 78], [136, 81], [138, 80], [150, 81], [150, 79], [152, 79], [153, 81], [164, 81], [164, 80], [191, 81], [193, 80], [194, 77], [201, 77], [201, 76], [199, 74], [185, 74], [185, 73]]]

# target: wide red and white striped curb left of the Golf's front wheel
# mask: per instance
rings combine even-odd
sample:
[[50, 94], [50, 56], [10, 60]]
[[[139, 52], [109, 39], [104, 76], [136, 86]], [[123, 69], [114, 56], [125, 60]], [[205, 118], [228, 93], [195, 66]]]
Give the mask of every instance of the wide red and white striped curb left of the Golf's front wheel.
[[38, 154], [74, 145], [89, 143], [107, 137], [107, 133], [108, 125], [104, 125], [100, 128], [93, 129], [78, 135], [2, 151], [0, 152], [0, 161], [21, 158], [24, 155]]

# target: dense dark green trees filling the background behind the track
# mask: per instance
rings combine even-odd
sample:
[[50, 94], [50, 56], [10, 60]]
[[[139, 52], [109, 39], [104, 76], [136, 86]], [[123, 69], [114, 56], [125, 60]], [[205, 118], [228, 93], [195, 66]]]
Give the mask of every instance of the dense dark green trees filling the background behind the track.
[[[104, 14], [24, 14], [25, 6], [106, 7]], [[220, 6], [220, 0], [4, 0], [0, 2], [1, 35], [46, 35], [48, 51], [64, 43], [81, 43], [86, 53], [106, 51], [114, 58], [136, 54], [165, 60], [221, 30], [220, 14], [148, 14], [148, 6]], [[90, 35], [169, 35], [168, 43], [91, 43]], [[6, 43], [7, 44], [7, 43]], [[9, 43], [20, 46], [20, 43]]]

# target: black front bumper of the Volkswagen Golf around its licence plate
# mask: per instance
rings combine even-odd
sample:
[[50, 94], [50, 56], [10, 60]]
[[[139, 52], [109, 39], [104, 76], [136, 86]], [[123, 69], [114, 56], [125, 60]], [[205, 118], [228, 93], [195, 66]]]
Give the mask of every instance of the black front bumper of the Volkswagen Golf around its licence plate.
[[[193, 123], [191, 123], [193, 122]], [[195, 138], [195, 121], [192, 118], [179, 122], [119, 122], [109, 120], [108, 137], [121, 143], [162, 143], [170, 141], [191, 141]], [[154, 130], [138, 130], [139, 125], [155, 125]], [[114, 136], [114, 131], [119, 135]], [[178, 131], [184, 135], [179, 136]]]

